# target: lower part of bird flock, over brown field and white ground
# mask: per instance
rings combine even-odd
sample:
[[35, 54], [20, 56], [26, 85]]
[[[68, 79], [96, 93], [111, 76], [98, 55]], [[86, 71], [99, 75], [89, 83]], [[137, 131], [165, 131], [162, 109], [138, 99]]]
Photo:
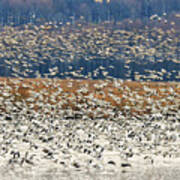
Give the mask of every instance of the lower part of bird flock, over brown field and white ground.
[[3, 167], [110, 173], [180, 157], [179, 83], [10, 78], [0, 89]]

